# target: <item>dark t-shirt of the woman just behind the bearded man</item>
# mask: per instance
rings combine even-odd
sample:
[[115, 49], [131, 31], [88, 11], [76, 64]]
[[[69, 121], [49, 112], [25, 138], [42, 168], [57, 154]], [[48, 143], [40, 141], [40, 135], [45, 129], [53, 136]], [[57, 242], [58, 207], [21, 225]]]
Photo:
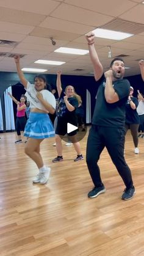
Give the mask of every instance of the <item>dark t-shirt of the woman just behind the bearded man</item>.
[[[137, 100], [137, 98], [135, 97], [131, 97], [132, 102], [134, 102], [136, 108], [139, 105], [139, 101]], [[129, 100], [126, 103], [126, 123], [128, 124], [139, 124], [140, 120], [139, 120], [139, 114], [137, 113], [137, 109], [132, 109], [130, 104], [129, 104]]]

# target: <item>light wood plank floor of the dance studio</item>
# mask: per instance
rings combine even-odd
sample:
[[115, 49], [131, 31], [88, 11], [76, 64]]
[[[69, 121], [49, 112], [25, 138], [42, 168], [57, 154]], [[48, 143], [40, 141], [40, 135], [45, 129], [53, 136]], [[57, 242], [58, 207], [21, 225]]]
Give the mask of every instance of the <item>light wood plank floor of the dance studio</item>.
[[[92, 180], [85, 160], [74, 163], [73, 146], [63, 142], [65, 161], [52, 163], [54, 138], [46, 139], [41, 153], [51, 177], [47, 185], [32, 185], [37, 167], [24, 155], [24, 143], [15, 145], [15, 133], [0, 136], [0, 255], [144, 255], [144, 139], [135, 155], [126, 136], [136, 194], [123, 201], [124, 185], [106, 150], [99, 166], [107, 191], [88, 199]], [[87, 136], [81, 141], [84, 156], [86, 141]]]

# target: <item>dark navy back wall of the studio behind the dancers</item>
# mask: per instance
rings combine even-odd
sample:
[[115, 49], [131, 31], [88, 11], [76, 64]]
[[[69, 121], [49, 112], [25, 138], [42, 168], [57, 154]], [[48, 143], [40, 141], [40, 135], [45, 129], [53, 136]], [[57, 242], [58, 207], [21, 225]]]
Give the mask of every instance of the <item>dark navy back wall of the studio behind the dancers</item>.
[[[30, 82], [34, 81], [35, 74], [25, 73], [26, 79]], [[56, 86], [56, 75], [46, 75], [46, 79], [49, 84], [52, 86]], [[134, 96], [137, 96], [137, 89], [140, 90], [144, 94], [144, 82], [142, 81], [142, 77], [140, 75], [131, 76], [127, 78], [131, 83], [131, 86], [134, 87]], [[92, 101], [92, 114], [95, 107], [95, 97], [96, 92], [98, 90], [97, 83], [95, 78], [92, 76], [68, 76], [62, 75], [62, 86], [65, 89], [66, 86], [71, 85], [74, 86], [77, 94], [81, 95], [82, 101], [84, 104], [86, 103], [86, 90], [88, 89], [91, 94], [91, 101]], [[18, 99], [20, 97], [20, 81], [18, 78], [17, 73], [10, 73], [10, 72], [0, 72], [0, 96], [1, 96], [1, 104], [2, 104], [2, 114], [4, 120], [4, 130], [5, 130], [5, 116], [4, 116], [4, 91], [9, 86], [13, 87], [12, 92], [14, 93], [13, 96]], [[18, 93], [18, 94], [17, 94]]]

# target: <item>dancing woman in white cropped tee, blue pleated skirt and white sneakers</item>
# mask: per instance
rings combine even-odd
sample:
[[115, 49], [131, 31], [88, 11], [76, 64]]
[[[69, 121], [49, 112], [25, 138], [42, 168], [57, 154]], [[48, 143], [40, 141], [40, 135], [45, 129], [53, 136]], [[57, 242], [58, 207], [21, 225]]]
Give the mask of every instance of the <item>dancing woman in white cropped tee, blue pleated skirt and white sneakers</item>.
[[45, 184], [49, 179], [50, 167], [46, 167], [40, 154], [40, 144], [48, 137], [54, 137], [54, 128], [48, 113], [54, 114], [56, 100], [49, 90], [46, 90], [46, 78], [36, 75], [34, 84], [25, 78], [20, 67], [20, 56], [15, 56], [16, 70], [21, 83], [27, 91], [27, 100], [30, 102], [31, 112], [24, 130], [24, 136], [29, 137], [24, 152], [38, 167], [38, 174], [33, 183]]

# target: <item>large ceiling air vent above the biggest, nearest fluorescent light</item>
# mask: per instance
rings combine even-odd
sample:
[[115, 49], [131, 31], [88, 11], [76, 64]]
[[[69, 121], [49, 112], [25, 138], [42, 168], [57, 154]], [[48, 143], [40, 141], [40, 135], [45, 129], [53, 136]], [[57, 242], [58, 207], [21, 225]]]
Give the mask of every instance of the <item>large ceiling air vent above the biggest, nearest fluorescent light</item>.
[[139, 34], [144, 32], [144, 24], [137, 24], [131, 21], [116, 18], [109, 23], [101, 26], [103, 29], [110, 29], [113, 31], [126, 32], [131, 34]]

